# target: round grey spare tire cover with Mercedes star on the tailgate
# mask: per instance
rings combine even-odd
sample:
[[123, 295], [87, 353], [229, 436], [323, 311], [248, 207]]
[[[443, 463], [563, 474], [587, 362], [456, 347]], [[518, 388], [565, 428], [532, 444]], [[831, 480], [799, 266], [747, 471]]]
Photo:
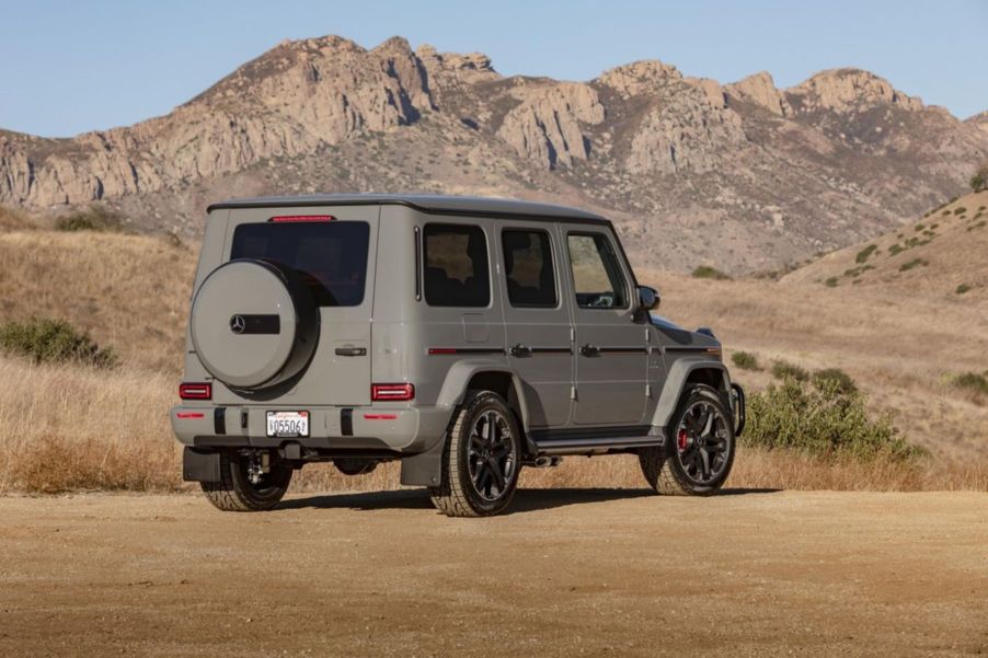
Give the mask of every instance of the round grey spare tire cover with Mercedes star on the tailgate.
[[240, 390], [274, 386], [312, 358], [319, 313], [291, 268], [253, 258], [212, 270], [192, 302], [192, 343], [216, 379]]

